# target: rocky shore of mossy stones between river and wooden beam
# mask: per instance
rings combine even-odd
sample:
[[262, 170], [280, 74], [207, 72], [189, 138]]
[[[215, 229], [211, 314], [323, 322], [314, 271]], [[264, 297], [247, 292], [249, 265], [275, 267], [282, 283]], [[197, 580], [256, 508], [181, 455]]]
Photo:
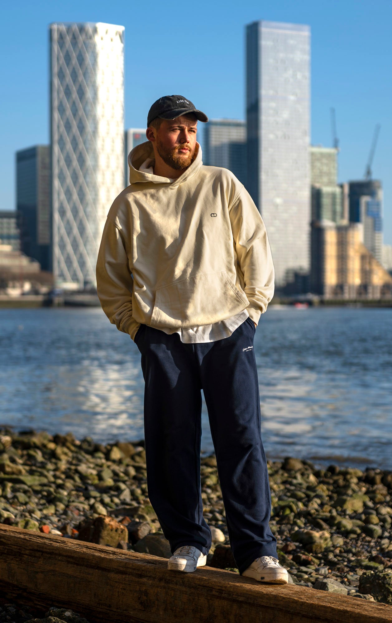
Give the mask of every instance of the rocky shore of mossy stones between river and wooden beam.
[[[269, 477], [270, 526], [292, 581], [392, 604], [392, 472], [287, 458], [269, 462]], [[201, 460], [201, 480], [204, 517], [214, 528], [208, 564], [236, 571], [213, 455]], [[170, 556], [148, 499], [142, 440], [103, 445], [3, 428], [0, 493], [1, 523]], [[120, 529], [108, 543], [113, 522]], [[0, 622], [85, 623], [59, 609], [40, 616], [0, 603]]]

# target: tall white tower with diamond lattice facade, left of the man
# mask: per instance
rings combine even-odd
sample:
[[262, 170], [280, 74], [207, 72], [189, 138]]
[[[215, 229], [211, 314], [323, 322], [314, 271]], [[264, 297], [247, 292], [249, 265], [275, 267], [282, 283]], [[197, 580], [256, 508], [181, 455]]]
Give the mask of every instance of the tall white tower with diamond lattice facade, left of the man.
[[106, 215], [124, 188], [124, 28], [50, 24], [55, 283], [95, 285]]

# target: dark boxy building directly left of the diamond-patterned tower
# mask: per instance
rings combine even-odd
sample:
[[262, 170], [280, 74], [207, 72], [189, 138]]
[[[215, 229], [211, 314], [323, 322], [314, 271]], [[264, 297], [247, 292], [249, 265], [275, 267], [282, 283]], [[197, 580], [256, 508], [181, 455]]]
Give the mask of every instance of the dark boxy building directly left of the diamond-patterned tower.
[[16, 209], [22, 253], [52, 270], [49, 145], [16, 152]]

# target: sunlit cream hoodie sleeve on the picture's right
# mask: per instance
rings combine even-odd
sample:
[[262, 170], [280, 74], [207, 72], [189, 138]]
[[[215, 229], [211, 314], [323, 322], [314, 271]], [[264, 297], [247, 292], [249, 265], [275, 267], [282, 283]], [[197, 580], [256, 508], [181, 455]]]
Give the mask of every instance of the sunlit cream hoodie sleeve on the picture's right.
[[242, 186], [229, 207], [234, 248], [244, 275], [247, 311], [256, 324], [274, 295], [274, 264], [264, 221]]

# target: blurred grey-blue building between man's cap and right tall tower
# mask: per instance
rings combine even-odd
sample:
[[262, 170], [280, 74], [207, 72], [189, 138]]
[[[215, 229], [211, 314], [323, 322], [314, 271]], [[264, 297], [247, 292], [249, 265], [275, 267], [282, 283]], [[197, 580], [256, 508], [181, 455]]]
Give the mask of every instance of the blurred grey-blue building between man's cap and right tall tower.
[[204, 124], [203, 163], [222, 166], [246, 184], [246, 123], [211, 119]]

